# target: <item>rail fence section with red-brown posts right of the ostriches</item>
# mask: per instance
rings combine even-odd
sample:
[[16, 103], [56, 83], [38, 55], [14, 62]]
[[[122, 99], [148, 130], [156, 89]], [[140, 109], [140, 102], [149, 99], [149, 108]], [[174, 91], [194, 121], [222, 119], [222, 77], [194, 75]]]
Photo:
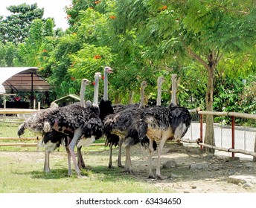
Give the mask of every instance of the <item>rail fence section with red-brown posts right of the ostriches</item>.
[[[203, 143], [205, 134], [204, 116], [214, 116], [214, 137], [215, 146]], [[234, 157], [238, 153], [240, 157], [256, 157], [256, 115], [240, 114], [235, 112], [214, 112], [199, 111], [193, 114], [191, 128], [185, 134], [185, 143], [198, 142], [199, 145], [217, 149], [221, 152], [228, 152], [228, 155]], [[223, 154], [221, 154], [223, 155]], [[255, 159], [254, 159], [255, 160]]]

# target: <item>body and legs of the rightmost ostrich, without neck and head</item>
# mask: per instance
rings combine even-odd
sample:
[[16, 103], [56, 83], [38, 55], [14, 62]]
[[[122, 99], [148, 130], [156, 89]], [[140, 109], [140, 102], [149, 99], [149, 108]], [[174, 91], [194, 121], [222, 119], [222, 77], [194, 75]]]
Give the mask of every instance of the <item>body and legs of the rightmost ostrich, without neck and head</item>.
[[[124, 112], [125, 117], [125, 112]], [[125, 118], [123, 118], [125, 119]], [[150, 139], [150, 174], [149, 178], [154, 178], [152, 170], [153, 157], [153, 141], [157, 143], [157, 166], [156, 178], [164, 179], [161, 175], [161, 151], [164, 143], [168, 139], [181, 140], [188, 131], [191, 125], [191, 114], [185, 107], [173, 106], [155, 106], [145, 108], [143, 111], [138, 110], [137, 117], [132, 120], [132, 125], [129, 127], [126, 138], [144, 138], [147, 136]]]

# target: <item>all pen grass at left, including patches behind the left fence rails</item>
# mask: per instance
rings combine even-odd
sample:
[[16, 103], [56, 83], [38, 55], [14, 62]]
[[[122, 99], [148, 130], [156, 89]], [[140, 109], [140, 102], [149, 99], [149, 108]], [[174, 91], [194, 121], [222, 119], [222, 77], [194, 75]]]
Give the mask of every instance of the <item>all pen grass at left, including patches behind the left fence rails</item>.
[[[17, 126], [0, 123], [1, 137], [16, 137]], [[34, 136], [25, 131], [24, 137]], [[95, 143], [104, 143], [104, 138]], [[1, 141], [2, 142], [2, 141]], [[9, 141], [12, 142], [13, 141]], [[23, 141], [22, 141], [23, 142]], [[170, 188], [156, 186], [138, 175], [129, 175], [124, 169], [109, 169], [109, 148], [89, 146], [82, 148], [89, 169], [82, 170], [88, 178], [68, 177], [65, 148], [60, 147], [50, 155], [51, 172], [43, 172], [45, 152], [36, 147], [0, 146], [0, 193], [150, 193], [172, 192]], [[113, 163], [118, 148], [113, 149]], [[124, 158], [123, 158], [124, 161]], [[72, 164], [73, 165], [73, 164]]]

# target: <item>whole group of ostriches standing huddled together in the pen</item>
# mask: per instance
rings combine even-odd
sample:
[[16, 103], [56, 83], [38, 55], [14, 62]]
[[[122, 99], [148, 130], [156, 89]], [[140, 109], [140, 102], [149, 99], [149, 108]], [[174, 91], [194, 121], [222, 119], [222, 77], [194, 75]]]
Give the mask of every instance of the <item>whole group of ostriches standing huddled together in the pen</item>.
[[[94, 99], [84, 100], [86, 86], [91, 82], [82, 79], [80, 90], [80, 103], [36, 111], [26, 118], [19, 126], [19, 137], [25, 129], [42, 134], [42, 146], [45, 148], [44, 171], [50, 172], [49, 155], [60, 145], [65, 146], [68, 155], [68, 175], [71, 175], [71, 160], [77, 177], [84, 178], [80, 169], [85, 168], [81, 148], [89, 146], [98, 138], [106, 138], [109, 146], [109, 168], [112, 168], [112, 148], [119, 146], [118, 166], [124, 167], [132, 173], [130, 156], [131, 146], [141, 144], [149, 149], [150, 178], [165, 177], [161, 175], [161, 152], [166, 140], [181, 140], [191, 125], [191, 114], [188, 109], [172, 103], [161, 105], [161, 84], [164, 77], [158, 79], [158, 97], [156, 106], [144, 105], [144, 90], [147, 82], [141, 82], [140, 103], [128, 105], [112, 105], [108, 99], [108, 75], [112, 68], [105, 67], [103, 71], [104, 91], [103, 98], [98, 104], [99, 82], [102, 78], [100, 72], [95, 73]], [[77, 159], [74, 148], [77, 147]], [[121, 147], [126, 153], [125, 166], [121, 163]], [[153, 174], [153, 151], [157, 151], [156, 175]]]

